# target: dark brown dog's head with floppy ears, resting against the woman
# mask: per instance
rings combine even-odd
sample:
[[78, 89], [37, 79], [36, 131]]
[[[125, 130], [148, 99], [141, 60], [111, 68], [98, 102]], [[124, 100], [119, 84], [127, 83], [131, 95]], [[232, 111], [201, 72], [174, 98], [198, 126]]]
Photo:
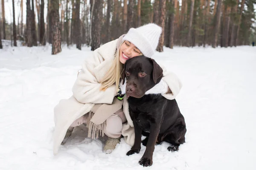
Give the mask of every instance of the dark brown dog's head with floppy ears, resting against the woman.
[[125, 62], [122, 79], [127, 79], [126, 95], [141, 98], [145, 92], [160, 82], [163, 69], [154, 59], [137, 56]]

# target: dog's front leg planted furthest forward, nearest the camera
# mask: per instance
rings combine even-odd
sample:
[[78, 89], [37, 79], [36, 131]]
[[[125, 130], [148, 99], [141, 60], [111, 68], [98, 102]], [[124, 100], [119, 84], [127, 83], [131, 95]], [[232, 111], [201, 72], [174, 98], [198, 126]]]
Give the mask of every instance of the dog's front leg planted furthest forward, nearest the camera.
[[143, 165], [143, 167], [151, 166], [153, 164], [152, 157], [153, 157], [154, 146], [157, 141], [159, 130], [160, 130], [160, 123], [152, 123], [150, 125], [150, 133], [148, 136], [148, 143], [146, 146], [146, 150], [139, 161], [139, 163]]

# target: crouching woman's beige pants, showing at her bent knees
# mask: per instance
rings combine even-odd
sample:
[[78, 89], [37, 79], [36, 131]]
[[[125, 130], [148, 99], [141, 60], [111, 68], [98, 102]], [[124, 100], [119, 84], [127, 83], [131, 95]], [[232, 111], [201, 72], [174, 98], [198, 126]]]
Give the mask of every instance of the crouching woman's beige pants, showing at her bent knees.
[[[121, 136], [122, 124], [126, 121], [125, 113], [122, 111], [122, 109], [120, 109], [106, 120], [105, 134], [111, 138], [119, 138]], [[76, 127], [86, 122], [87, 120], [85, 116], [81, 116], [80, 118], [76, 119], [75, 122], [70, 125], [70, 127]]]

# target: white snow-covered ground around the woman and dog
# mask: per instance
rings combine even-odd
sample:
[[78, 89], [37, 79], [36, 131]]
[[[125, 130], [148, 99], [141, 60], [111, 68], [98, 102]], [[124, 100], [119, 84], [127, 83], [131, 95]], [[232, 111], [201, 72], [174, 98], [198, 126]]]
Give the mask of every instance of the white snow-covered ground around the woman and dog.
[[157, 145], [151, 167], [138, 164], [144, 146], [126, 156], [123, 140], [111, 154], [98, 140], [84, 140], [53, 156], [53, 108], [70, 97], [92, 51], [50, 53], [49, 46], [0, 50], [0, 170], [256, 169], [256, 47], [175, 47], [154, 55], [183, 82], [176, 99], [187, 133], [178, 152]]

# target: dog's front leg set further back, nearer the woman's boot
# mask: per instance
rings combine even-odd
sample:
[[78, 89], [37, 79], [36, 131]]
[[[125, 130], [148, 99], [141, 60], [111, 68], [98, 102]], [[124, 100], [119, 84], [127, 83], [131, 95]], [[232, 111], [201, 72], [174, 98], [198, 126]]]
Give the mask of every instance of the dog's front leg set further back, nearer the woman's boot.
[[136, 121], [133, 121], [134, 124], [134, 132], [135, 132], [135, 140], [134, 140], [134, 145], [133, 147], [131, 147], [131, 150], [129, 150], [126, 155], [132, 155], [134, 153], [140, 153], [140, 143], [141, 143], [141, 128], [139, 127], [139, 125], [137, 124]]

